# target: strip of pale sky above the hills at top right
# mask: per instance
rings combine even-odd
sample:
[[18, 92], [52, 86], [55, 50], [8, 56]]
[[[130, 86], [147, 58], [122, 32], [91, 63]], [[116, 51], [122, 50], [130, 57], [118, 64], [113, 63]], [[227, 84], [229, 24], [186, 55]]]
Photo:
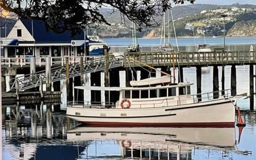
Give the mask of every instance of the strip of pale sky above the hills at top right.
[[[239, 4], [255, 4], [256, 0], [196, 0], [194, 4], [217, 4], [217, 5], [231, 5]], [[187, 3], [189, 4], [189, 3]]]

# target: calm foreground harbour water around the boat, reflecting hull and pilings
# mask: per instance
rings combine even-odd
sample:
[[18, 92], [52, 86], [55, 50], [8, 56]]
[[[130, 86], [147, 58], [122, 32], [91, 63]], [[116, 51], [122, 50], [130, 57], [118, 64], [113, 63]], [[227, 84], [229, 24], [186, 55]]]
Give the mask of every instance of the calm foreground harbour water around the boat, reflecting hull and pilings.
[[[212, 89], [212, 68], [206, 68], [205, 72], [202, 74], [202, 92]], [[237, 75], [237, 92], [249, 92], [249, 67], [238, 66]], [[228, 89], [229, 66], [225, 68], [225, 78], [225, 88]], [[184, 80], [194, 83], [195, 79], [195, 68], [184, 68]], [[191, 92], [196, 93], [196, 84], [191, 87]], [[239, 139], [238, 127], [83, 126], [67, 120], [66, 100], [62, 98], [62, 102], [3, 106], [3, 159], [256, 159], [255, 112], [243, 113], [246, 127]], [[241, 99], [238, 105], [248, 110], [249, 100]]]

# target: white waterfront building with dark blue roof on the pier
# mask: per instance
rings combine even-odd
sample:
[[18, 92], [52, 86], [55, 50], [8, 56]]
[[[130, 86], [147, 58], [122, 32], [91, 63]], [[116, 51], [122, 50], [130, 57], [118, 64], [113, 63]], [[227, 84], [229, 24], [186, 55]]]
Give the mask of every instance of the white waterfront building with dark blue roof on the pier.
[[[10, 29], [5, 32], [5, 28]], [[47, 31], [43, 21], [32, 19], [17, 19], [13, 26], [5, 28], [1, 27], [2, 57], [85, 56], [99, 49], [96, 55], [103, 55], [105, 43], [89, 39], [84, 32], [74, 37], [68, 30], [58, 34]]]

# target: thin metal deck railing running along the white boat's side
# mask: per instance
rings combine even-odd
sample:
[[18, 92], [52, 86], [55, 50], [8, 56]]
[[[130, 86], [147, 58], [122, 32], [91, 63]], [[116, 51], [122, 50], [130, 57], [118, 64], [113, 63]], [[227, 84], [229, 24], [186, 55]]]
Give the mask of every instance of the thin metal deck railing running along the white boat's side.
[[[184, 99], [183, 99], [184, 97]], [[171, 107], [177, 105], [184, 105], [184, 104], [194, 104], [199, 102], [210, 101], [212, 99], [218, 98], [228, 98], [231, 96], [231, 89], [225, 89], [220, 91], [214, 92], [207, 92], [201, 94], [192, 94], [192, 95], [182, 95], [178, 97], [167, 97], [159, 103], [152, 103], [152, 104], [134, 104], [132, 103], [131, 106], [138, 106], [132, 108], [157, 108], [157, 107]], [[189, 101], [189, 103], [188, 103]], [[68, 102], [68, 106], [70, 107], [81, 107], [81, 108], [121, 108], [121, 105], [116, 104], [115, 102], [84, 102], [84, 101], [70, 101]], [[152, 106], [152, 107], [143, 107], [143, 106]], [[128, 105], [124, 105], [123, 107], [128, 107]]]

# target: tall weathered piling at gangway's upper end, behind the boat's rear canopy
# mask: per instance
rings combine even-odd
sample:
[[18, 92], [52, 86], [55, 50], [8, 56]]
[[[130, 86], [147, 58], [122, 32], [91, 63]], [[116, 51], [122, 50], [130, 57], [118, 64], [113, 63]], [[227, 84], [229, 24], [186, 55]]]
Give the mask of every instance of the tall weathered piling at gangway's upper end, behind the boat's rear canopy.
[[[107, 53], [107, 48], [104, 46], [104, 53], [105, 53], [105, 87], [109, 87], [109, 54]], [[108, 104], [109, 102], [109, 92], [105, 91], [105, 103]]]

